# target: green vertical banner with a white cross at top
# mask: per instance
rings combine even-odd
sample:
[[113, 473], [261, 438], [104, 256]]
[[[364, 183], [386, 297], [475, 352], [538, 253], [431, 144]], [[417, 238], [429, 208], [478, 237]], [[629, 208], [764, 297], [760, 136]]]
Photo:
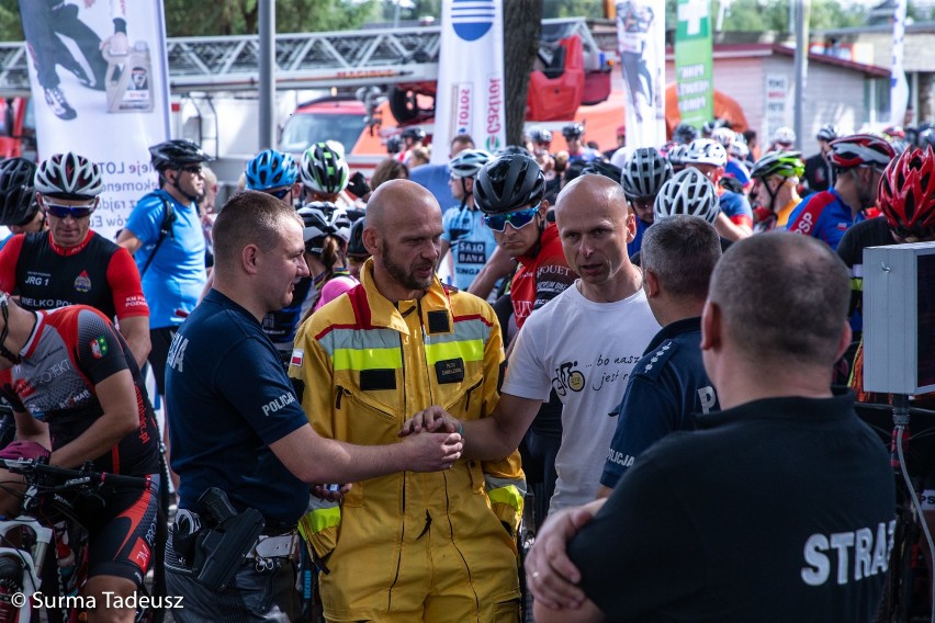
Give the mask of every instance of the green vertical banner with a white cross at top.
[[711, 69], [711, 2], [678, 0], [675, 31], [675, 79], [681, 121], [701, 127], [714, 118]]

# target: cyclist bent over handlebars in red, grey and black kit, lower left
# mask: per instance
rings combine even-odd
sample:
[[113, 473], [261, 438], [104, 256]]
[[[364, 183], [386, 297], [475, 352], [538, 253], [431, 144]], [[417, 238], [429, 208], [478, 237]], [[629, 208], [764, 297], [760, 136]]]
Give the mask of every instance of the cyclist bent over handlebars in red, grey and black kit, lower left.
[[[0, 292], [0, 394], [16, 420], [16, 441], [0, 457], [44, 456], [68, 468], [91, 462], [95, 471], [148, 482], [74, 502], [89, 534], [89, 620], [128, 623], [135, 609], [120, 605], [149, 568], [160, 480], [159, 434], [139, 369], [114, 326], [91, 307], [32, 312]], [[0, 502], [3, 512], [19, 503], [5, 491]]]

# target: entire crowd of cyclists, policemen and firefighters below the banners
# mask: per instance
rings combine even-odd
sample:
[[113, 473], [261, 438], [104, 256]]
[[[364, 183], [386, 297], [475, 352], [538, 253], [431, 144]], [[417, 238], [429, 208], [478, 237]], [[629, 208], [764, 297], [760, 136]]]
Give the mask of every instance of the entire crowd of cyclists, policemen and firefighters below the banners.
[[[518, 622], [523, 587], [543, 623], [871, 620], [895, 496], [845, 387], [888, 400], [860, 378], [861, 251], [935, 240], [935, 152], [618, 134], [460, 135], [430, 165], [409, 128], [370, 180], [339, 144], [266, 149], [219, 206], [211, 158], [167, 140], [116, 241], [88, 158], [0, 162], [0, 456], [150, 482], [77, 509], [87, 594], [143, 581], [165, 454], [180, 622], [298, 620], [303, 551], [329, 622]], [[252, 522], [224, 551], [218, 492]]]

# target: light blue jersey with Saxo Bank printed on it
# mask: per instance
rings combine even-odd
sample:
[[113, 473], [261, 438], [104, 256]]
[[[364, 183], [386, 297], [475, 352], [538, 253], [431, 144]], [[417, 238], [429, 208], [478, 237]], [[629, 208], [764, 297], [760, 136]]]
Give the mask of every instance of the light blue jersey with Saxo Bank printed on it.
[[441, 239], [451, 245], [454, 259], [454, 287], [467, 290], [497, 248], [494, 233], [484, 225], [484, 214], [466, 205], [446, 209], [441, 225]]

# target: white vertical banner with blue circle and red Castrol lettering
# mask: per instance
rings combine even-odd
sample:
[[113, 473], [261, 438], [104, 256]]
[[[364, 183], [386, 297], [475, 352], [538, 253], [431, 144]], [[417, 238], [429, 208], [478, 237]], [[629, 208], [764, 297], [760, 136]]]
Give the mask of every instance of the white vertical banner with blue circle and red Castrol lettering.
[[442, 0], [431, 161], [448, 163], [459, 134], [491, 152], [506, 141], [504, 0]]

